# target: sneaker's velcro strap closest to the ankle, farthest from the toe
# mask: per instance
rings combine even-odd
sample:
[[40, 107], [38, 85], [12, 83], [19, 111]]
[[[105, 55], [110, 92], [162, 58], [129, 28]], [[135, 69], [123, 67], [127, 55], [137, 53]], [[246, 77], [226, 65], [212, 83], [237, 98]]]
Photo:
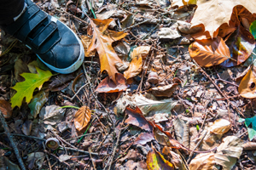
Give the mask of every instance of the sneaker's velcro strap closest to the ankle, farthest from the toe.
[[22, 26], [26, 24], [27, 20], [30, 20], [34, 14], [37, 14], [40, 8], [36, 4], [29, 6], [24, 14], [22, 14], [18, 20], [7, 26], [5, 29], [10, 35], [14, 35]]

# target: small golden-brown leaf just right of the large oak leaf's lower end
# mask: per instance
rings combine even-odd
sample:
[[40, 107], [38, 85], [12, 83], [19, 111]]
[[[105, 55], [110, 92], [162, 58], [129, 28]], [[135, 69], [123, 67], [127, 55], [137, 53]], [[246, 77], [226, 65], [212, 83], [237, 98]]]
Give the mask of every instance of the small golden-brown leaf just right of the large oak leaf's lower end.
[[143, 68], [143, 58], [141, 56], [137, 56], [131, 60], [129, 68], [124, 72], [124, 76], [126, 79], [131, 77], [136, 77]]

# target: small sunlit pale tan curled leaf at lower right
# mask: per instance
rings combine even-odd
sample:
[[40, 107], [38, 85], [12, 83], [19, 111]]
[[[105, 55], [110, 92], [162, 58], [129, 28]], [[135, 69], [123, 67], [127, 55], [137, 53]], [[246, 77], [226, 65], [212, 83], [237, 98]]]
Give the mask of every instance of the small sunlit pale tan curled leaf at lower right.
[[225, 119], [218, 119], [213, 122], [210, 132], [215, 134], [224, 134], [230, 130], [230, 122]]

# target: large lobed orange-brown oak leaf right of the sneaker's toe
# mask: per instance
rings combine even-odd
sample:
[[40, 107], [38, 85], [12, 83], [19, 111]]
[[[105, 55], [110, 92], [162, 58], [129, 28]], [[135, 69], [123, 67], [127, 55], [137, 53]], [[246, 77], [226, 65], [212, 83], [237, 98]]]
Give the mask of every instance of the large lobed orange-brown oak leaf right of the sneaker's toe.
[[112, 42], [118, 41], [127, 34], [124, 31], [108, 30], [108, 25], [112, 21], [113, 19], [90, 20], [90, 26], [93, 28], [93, 37], [88, 48], [88, 53], [95, 49], [97, 50], [101, 62], [101, 71], [107, 71], [110, 79], [116, 82], [115, 74], [118, 71], [115, 65], [122, 63], [122, 60], [119, 59], [119, 56], [113, 50]]

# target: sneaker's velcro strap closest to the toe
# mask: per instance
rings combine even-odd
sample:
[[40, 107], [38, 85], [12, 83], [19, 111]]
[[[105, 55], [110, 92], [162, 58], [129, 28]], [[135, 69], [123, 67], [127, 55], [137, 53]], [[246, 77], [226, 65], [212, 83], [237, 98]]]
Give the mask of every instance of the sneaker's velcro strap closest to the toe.
[[38, 33], [36, 37], [32, 40], [32, 45], [35, 48], [40, 48], [40, 46], [50, 37], [54, 31], [57, 30], [57, 24], [55, 22], [49, 22], [47, 26], [44, 27], [42, 31]]

